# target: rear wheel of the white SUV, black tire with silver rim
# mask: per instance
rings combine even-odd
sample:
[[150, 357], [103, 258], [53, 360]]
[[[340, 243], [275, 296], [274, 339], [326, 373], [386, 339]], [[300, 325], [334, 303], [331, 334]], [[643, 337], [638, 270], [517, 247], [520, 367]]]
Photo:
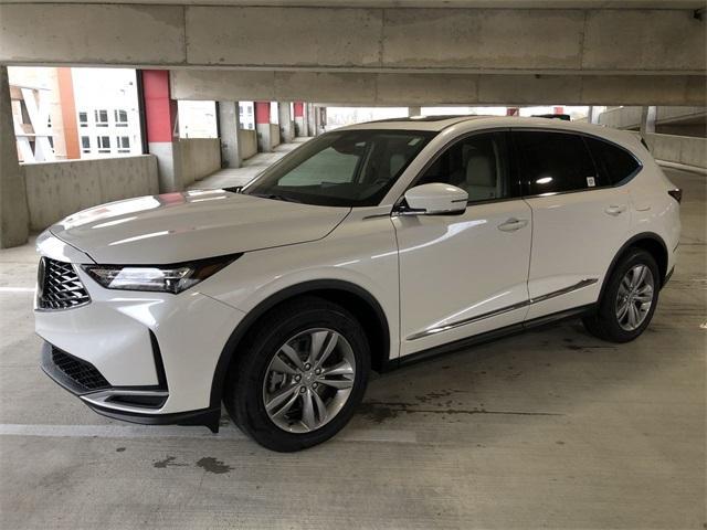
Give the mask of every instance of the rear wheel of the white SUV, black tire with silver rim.
[[[633, 286], [633, 280], [639, 283]], [[590, 333], [602, 340], [634, 340], [651, 324], [659, 290], [661, 276], [655, 258], [644, 250], [629, 248], [611, 273], [599, 310], [582, 322]]]

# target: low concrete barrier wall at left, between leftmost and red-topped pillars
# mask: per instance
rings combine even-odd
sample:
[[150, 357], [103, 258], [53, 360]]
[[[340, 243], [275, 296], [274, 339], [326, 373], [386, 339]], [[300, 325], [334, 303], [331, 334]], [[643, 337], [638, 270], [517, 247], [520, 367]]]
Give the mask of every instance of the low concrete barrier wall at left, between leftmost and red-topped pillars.
[[96, 204], [159, 192], [151, 155], [25, 163], [22, 172], [34, 232]]

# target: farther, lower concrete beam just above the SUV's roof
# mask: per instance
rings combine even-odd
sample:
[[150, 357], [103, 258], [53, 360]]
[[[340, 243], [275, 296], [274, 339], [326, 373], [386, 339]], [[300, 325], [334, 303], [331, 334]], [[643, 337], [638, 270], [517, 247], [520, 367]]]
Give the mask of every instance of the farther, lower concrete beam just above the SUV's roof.
[[178, 99], [314, 100], [335, 105], [695, 105], [704, 76], [477, 75], [179, 70]]

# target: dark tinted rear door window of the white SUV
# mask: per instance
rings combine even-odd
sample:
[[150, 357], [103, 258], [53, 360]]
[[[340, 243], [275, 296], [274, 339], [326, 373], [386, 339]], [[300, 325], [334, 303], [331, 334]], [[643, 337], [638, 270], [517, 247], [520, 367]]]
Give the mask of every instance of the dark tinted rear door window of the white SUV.
[[526, 194], [587, 190], [602, 186], [581, 136], [516, 131]]

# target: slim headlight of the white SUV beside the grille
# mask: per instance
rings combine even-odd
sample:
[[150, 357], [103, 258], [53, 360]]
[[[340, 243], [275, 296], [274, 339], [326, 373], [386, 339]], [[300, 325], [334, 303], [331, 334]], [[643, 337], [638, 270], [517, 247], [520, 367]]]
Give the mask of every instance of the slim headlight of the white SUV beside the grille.
[[83, 269], [107, 289], [157, 290], [179, 294], [218, 273], [242, 254], [176, 265], [83, 265]]

